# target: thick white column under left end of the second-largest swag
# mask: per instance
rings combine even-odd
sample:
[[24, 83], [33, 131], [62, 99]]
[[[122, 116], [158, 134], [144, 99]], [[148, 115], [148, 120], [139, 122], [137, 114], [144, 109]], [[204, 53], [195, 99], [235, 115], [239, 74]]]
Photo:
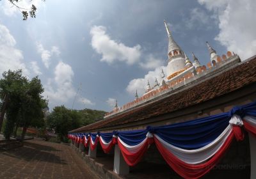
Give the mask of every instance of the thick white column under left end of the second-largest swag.
[[114, 169], [113, 171], [118, 175], [129, 174], [129, 166], [126, 164], [122, 152], [118, 147], [118, 144], [115, 145], [115, 157], [114, 157]]

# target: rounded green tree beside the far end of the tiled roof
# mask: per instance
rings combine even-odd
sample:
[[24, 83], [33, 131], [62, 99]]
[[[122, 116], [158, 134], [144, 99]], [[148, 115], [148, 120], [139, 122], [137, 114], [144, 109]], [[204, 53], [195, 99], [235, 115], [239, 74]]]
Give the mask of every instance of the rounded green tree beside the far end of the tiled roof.
[[81, 127], [81, 115], [64, 105], [57, 106], [47, 116], [47, 125], [56, 131], [60, 141], [67, 142], [68, 131]]

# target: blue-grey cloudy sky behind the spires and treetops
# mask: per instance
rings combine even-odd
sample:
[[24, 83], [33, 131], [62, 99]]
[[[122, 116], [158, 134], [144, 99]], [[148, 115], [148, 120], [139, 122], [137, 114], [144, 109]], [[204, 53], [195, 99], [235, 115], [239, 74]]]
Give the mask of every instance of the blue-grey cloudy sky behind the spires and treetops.
[[63, 104], [110, 111], [115, 99], [123, 105], [136, 89], [141, 95], [147, 80], [160, 78], [167, 65], [164, 19], [189, 58], [194, 52], [204, 65], [205, 41], [220, 55], [234, 51], [243, 60], [256, 54], [254, 0], [33, 4], [36, 19], [23, 21], [17, 8], [0, 1], [0, 72], [21, 68], [29, 78], [39, 75], [50, 109]]

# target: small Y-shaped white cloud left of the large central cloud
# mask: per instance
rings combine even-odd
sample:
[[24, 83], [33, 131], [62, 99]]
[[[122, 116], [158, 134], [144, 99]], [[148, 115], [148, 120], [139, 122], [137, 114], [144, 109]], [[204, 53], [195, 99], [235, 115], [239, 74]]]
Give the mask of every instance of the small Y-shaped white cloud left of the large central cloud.
[[44, 49], [42, 43], [36, 43], [36, 48], [37, 52], [41, 54], [42, 62], [44, 63], [44, 66], [46, 68], [49, 68], [49, 66], [51, 65], [50, 59], [52, 55], [55, 54], [56, 56], [60, 56], [60, 49], [56, 46], [52, 46], [51, 51], [48, 51]]

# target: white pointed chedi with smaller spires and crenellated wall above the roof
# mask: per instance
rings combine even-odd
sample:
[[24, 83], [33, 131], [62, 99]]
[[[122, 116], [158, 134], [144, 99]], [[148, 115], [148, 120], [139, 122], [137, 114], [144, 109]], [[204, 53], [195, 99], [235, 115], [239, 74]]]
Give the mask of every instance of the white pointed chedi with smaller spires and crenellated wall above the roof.
[[105, 118], [108, 118], [116, 113], [127, 111], [132, 107], [143, 105], [145, 102], [154, 100], [154, 98], [157, 98], [163, 94], [172, 93], [172, 91], [175, 91], [176, 88], [186, 85], [189, 82], [204, 80], [205, 77], [217, 74], [223, 69], [228, 68], [228, 66], [241, 62], [239, 56], [234, 54], [234, 52], [231, 53], [228, 51], [227, 56], [223, 55], [221, 58], [211, 47], [209, 42], [206, 42], [210, 56], [209, 63], [207, 64], [208, 69], [206, 66], [201, 65], [194, 52], [192, 52], [192, 63], [188, 56], [186, 56], [186, 53], [184, 53], [177, 42], [175, 42], [170, 31], [170, 27], [168, 27], [165, 20], [164, 26], [168, 36], [168, 64], [166, 66], [166, 74], [164, 74], [162, 69], [162, 81], [159, 83], [156, 79], [155, 84], [150, 84], [150, 82], [147, 81], [147, 86], [145, 86], [145, 94], [142, 97], [138, 97], [138, 93], [136, 93], [137, 97], [134, 101], [129, 102], [120, 108], [115, 107], [113, 111], [106, 114]]

